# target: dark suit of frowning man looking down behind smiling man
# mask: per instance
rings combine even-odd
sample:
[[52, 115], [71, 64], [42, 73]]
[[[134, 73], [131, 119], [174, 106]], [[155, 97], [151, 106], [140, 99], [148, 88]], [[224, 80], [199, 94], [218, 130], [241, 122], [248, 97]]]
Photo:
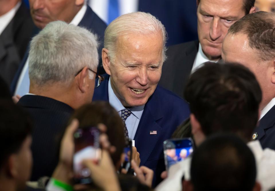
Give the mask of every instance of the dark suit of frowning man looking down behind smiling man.
[[183, 98], [198, 50], [198, 40], [169, 46], [159, 85]]

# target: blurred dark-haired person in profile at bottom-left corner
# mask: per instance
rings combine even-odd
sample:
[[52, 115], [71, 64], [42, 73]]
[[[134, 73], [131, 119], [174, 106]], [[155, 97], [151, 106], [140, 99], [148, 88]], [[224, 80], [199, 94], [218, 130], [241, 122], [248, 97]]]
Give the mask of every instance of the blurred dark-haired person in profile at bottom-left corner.
[[0, 190], [25, 190], [32, 171], [32, 122], [11, 100], [0, 100]]

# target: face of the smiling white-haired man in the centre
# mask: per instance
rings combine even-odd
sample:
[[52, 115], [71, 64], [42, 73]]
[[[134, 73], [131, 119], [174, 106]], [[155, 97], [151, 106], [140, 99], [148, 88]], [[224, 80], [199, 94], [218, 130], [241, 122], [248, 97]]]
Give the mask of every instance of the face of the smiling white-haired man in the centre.
[[162, 33], [123, 35], [116, 42], [114, 63], [110, 63], [111, 86], [123, 106], [146, 104], [161, 76]]

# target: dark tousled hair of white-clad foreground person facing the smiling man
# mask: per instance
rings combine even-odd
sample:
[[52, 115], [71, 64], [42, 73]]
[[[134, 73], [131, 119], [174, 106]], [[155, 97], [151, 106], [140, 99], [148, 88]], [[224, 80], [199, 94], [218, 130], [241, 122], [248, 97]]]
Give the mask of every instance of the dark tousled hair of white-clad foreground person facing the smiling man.
[[190, 76], [184, 97], [205, 135], [231, 132], [246, 141], [251, 139], [262, 91], [246, 67], [205, 63]]

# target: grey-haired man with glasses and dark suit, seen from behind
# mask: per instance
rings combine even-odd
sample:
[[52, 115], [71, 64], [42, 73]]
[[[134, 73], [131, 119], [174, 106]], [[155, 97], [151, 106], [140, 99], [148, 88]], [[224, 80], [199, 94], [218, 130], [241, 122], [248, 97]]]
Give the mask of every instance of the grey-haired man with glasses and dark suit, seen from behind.
[[97, 46], [94, 34], [61, 21], [51, 22], [31, 41], [30, 93], [18, 102], [34, 119], [31, 180], [51, 176], [68, 118], [92, 100]]

